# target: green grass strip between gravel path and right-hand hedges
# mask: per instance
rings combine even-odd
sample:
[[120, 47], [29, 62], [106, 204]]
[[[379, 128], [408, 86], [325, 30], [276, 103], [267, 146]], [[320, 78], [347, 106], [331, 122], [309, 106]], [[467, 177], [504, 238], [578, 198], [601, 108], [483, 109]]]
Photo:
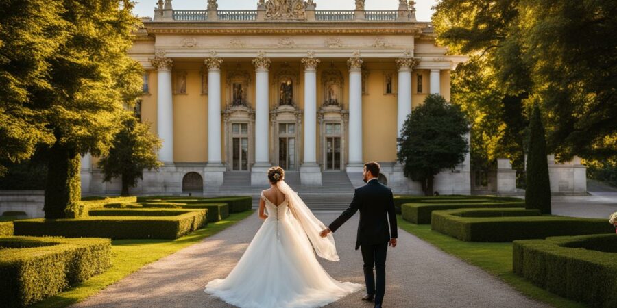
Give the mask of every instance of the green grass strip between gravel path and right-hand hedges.
[[463, 242], [431, 230], [430, 224], [412, 224], [397, 215], [398, 227], [437, 248], [459, 257], [469, 264], [502, 279], [525, 296], [540, 300], [554, 307], [587, 307], [533, 285], [512, 271], [512, 243]]

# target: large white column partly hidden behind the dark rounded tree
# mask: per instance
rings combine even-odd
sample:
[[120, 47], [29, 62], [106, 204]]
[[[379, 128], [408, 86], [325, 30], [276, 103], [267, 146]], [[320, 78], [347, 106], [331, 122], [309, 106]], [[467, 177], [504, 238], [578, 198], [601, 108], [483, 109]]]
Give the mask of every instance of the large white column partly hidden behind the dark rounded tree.
[[400, 131], [407, 116], [411, 114], [411, 69], [417, 64], [413, 57], [396, 59], [398, 66], [398, 97], [396, 116], [396, 137], [400, 138]]

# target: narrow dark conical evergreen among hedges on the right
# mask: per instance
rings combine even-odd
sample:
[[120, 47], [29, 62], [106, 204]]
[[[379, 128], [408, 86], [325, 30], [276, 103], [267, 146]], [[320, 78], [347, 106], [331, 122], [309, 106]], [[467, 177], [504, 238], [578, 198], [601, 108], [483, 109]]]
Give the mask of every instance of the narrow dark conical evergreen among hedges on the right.
[[548, 160], [546, 158], [546, 141], [540, 107], [533, 107], [529, 122], [529, 149], [527, 149], [527, 188], [525, 189], [525, 207], [540, 209], [542, 214], [551, 214], [551, 183], [548, 177]]

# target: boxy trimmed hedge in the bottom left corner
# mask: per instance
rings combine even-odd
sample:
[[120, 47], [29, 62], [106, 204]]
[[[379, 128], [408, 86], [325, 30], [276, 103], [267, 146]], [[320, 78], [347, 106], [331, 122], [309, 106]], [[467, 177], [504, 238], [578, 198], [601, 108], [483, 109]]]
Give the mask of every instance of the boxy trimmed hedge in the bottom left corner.
[[108, 239], [0, 238], [0, 307], [32, 305], [110, 266]]

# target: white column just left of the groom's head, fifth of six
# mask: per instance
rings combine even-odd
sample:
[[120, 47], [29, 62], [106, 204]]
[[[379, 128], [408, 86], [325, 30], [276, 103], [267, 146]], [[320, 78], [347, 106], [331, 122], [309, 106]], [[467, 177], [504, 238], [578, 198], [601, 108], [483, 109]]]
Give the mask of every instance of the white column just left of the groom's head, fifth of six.
[[362, 172], [362, 59], [354, 51], [347, 60], [349, 67], [349, 163], [346, 171]]

